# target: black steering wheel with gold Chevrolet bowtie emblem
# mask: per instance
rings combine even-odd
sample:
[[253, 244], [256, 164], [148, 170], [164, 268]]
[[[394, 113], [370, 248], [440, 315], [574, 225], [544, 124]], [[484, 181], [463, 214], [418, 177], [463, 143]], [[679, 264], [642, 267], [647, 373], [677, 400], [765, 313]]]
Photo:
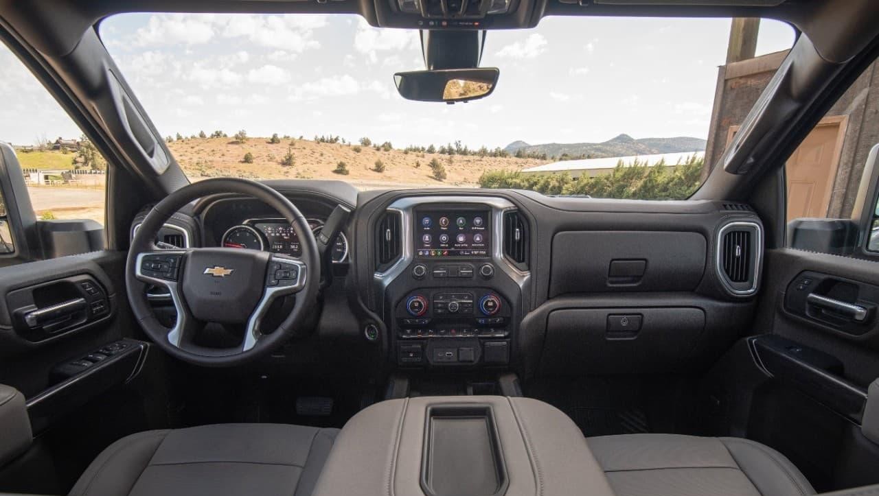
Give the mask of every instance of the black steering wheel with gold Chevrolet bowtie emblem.
[[[238, 193], [265, 202], [290, 222], [301, 255], [292, 258], [243, 248], [160, 249], [154, 242], [165, 221], [184, 205], [208, 195]], [[134, 233], [126, 263], [128, 301], [149, 338], [171, 356], [208, 367], [229, 367], [265, 356], [294, 334], [321, 280], [320, 254], [308, 220], [278, 191], [245, 179], [215, 178], [189, 184], [156, 204]], [[147, 302], [147, 284], [163, 286], [177, 310], [174, 327], [164, 327]], [[295, 294], [293, 309], [273, 330], [261, 329], [272, 301]], [[233, 348], [196, 343], [205, 322], [244, 325]]]

